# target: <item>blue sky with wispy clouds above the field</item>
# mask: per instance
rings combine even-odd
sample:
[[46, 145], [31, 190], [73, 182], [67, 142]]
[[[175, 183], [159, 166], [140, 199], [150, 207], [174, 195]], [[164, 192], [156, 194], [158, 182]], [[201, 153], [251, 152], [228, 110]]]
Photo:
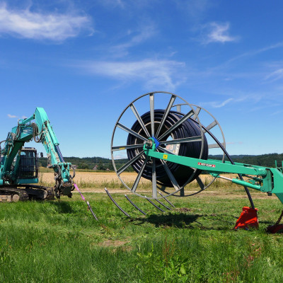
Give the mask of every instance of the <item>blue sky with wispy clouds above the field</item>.
[[169, 91], [212, 112], [230, 154], [282, 153], [282, 11], [282, 1], [0, 0], [1, 140], [43, 107], [64, 156], [110, 157], [127, 104]]

